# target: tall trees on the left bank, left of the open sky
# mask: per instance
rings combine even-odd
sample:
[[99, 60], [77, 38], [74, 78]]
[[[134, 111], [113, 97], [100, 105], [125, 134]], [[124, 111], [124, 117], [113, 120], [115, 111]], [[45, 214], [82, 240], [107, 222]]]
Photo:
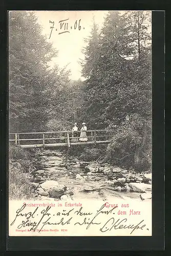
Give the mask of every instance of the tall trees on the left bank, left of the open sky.
[[47, 122], [48, 62], [57, 55], [33, 12], [9, 14], [10, 131], [39, 131]]

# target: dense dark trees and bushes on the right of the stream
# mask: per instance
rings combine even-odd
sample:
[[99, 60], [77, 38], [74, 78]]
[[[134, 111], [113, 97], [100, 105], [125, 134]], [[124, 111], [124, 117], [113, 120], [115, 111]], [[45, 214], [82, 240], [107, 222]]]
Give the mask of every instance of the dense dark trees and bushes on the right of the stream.
[[89, 126], [113, 130], [106, 160], [151, 166], [152, 71], [148, 12], [109, 12], [94, 25], [82, 73]]

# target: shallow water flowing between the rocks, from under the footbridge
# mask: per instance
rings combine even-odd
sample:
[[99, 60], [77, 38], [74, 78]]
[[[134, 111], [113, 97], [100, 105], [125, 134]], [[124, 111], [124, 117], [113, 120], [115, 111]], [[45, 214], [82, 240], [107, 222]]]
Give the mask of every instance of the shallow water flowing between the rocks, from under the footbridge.
[[[34, 153], [36, 170], [32, 174], [32, 182], [42, 183], [46, 180], [55, 180], [59, 184], [66, 185], [73, 191], [74, 199], [134, 199], [141, 201], [139, 193], [126, 193], [115, 191], [114, 187], [106, 183], [110, 177], [101, 173], [88, 175], [84, 167], [73, 167], [73, 158], [69, 158], [68, 169], [65, 167], [65, 154], [56, 150], [32, 150]], [[76, 179], [79, 174], [82, 179]]]

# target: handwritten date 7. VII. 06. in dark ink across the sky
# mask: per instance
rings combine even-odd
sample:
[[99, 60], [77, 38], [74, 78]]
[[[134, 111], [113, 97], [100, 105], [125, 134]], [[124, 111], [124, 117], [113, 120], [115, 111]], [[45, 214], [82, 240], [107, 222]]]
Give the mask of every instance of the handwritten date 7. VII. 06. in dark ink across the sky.
[[63, 33], [70, 33], [72, 29], [78, 31], [84, 29], [84, 27], [81, 26], [81, 19], [75, 20], [74, 24], [70, 24], [69, 18], [59, 20], [57, 25], [52, 20], [49, 20], [49, 23], [51, 24], [49, 39], [51, 38], [52, 31], [58, 31], [58, 35], [60, 35]]

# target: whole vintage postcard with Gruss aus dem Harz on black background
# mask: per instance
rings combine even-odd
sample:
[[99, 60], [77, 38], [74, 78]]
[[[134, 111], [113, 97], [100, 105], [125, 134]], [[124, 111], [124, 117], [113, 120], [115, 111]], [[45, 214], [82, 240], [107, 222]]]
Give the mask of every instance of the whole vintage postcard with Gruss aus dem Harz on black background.
[[8, 30], [10, 235], [152, 236], [152, 11]]

